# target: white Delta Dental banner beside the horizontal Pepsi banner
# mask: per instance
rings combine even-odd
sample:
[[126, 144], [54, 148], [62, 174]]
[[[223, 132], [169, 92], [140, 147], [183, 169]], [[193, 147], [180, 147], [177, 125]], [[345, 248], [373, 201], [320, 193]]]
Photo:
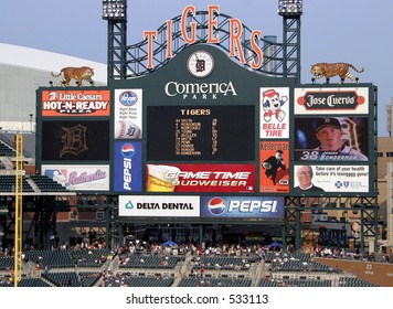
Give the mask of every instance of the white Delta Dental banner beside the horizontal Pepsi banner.
[[120, 195], [119, 215], [121, 216], [200, 216], [199, 196], [168, 195]]

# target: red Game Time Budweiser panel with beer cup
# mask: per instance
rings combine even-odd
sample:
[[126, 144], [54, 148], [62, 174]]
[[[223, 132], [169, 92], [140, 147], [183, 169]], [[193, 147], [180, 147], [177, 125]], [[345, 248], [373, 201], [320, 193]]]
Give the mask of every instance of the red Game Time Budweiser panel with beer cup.
[[254, 164], [147, 164], [147, 192], [255, 192]]

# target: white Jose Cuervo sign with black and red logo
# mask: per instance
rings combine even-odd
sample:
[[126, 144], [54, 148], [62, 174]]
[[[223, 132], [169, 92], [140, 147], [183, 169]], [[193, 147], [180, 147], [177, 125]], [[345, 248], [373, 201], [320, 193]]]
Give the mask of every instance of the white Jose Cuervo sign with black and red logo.
[[295, 89], [296, 114], [368, 113], [368, 88], [308, 88]]

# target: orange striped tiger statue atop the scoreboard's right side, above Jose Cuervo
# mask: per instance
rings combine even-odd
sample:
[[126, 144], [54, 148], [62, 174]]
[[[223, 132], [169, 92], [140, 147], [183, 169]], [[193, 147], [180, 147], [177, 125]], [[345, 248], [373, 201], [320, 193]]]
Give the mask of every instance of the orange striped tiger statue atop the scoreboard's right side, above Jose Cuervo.
[[341, 77], [341, 81], [339, 84], [342, 84], [346, 79], [346, 77], [350, 78], [352, 83], [357, 83], [357, 78], [349, 73], [349, 68], [354, 70], [358, 73], [362, 73], [364, 68], [358, 70], [355, 68], [352, 64], [349, 63], [316, 63], [311, 65], [311, 74], [317, 78], [322, 78], [323, 76], [326, 77], [326, 83], [329, 84], [330, 77], [339, 75]]

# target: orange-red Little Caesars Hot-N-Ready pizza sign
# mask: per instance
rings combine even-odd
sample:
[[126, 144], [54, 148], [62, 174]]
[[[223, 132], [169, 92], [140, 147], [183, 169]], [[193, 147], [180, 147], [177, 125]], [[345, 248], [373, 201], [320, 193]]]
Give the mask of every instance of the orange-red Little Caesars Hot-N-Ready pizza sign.
[[110, 90], [43, 90], [42, 116], [109, 116]]

